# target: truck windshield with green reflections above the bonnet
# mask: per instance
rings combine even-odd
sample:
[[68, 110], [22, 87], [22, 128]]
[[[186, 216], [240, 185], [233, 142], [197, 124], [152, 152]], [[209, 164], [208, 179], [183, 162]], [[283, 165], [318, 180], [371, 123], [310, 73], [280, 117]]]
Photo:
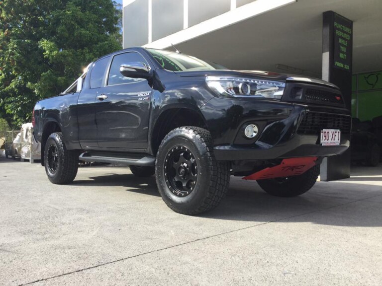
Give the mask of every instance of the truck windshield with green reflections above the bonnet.
[[154, 59], [169, 71], [210, 71], [227, 70], [215, 63], [207, 63], [198, 58], [185, 54], [174, 53], [164, 50], [147, 49]]

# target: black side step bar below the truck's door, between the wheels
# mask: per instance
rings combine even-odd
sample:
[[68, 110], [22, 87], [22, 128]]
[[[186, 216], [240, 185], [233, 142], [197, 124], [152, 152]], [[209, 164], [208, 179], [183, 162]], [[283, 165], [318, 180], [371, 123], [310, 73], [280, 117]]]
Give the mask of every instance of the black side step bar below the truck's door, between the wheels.
[[118, 154], [84, 152], [79, 158], [86, 162], [124, 163], [134, 166], [155, 166], [155, 157], [148, 154]]

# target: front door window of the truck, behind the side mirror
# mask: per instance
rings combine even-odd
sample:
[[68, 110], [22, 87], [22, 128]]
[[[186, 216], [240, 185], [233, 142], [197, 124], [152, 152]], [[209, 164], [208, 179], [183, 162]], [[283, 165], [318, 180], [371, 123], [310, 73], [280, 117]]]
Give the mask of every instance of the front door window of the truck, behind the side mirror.
[[119, 72], [119, 67], [122, 64], [128, 64], [131, 62], [141, 62], [147, 65], [147, 61], [145, 60], [145, 58], [143, 58], [140, 54], [135, 52], [129, 52], [129, 53], [116, 55], [114, 56], [113, 62], [111, 63], [107, 85], [131, 83], [131, 82], [143, 80], [142, 78], [126, 77]]

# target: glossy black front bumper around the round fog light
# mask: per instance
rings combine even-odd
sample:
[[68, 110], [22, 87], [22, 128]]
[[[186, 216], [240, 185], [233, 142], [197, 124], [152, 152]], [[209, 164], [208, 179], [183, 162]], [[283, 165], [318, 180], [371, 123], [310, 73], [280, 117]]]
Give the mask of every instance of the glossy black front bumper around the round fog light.
[[[222, 109], [223, 105], [229, 108]], [[212, 135], [217, 160], [326, 157], [345, 152], [350, 144], [350, 123], [348, 126], [342, 121], [337, 122], [337, 119], [343, 118], [346, 122], [351, 120], [344, 108], [272, 100], [214, 98], [203, 106], [202, 112]], [[320, 123], [316, 122], [320, 118], [312, 117], [312, 114], [325, 115], [322, 122], [326, 125], [321, 128]], [[258, 125], [259, 133], [255, 138], [247, 139], [244, 128], [252, 123]], [[341, 130], [340, 145], [320, 145], [320, 130], [324, 128]]]

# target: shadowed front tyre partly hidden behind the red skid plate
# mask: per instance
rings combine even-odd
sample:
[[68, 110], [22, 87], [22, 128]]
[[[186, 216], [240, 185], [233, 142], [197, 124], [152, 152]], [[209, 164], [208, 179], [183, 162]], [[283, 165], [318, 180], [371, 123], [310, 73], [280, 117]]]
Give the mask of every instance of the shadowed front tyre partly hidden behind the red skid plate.
[[286, 178], [257, 180], [268, 194], [277, 197], [296, 197], [309, 191], [320, 174], [320, 165], [315, 165], [305, 173]]

